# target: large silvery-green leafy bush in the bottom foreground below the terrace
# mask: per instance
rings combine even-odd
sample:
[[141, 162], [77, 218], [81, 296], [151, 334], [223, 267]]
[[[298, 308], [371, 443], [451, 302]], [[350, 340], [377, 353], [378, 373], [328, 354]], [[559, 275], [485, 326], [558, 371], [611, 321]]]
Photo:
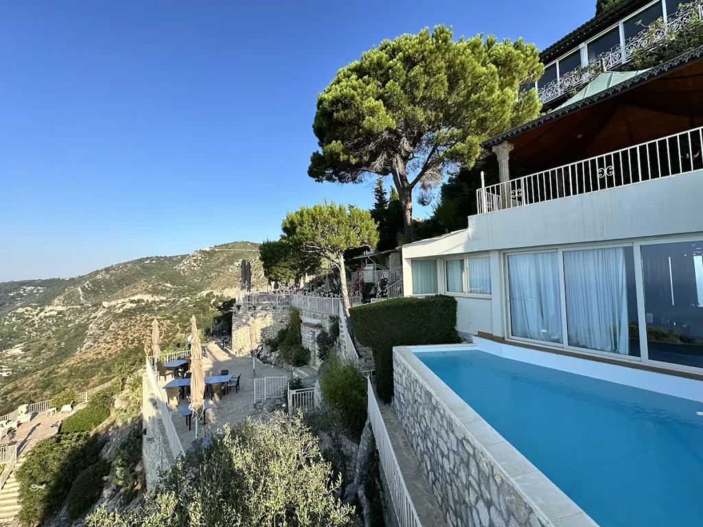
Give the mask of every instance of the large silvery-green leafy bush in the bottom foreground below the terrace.
[[352, 527], [354, 509], [335, 497], [340, 483], [318, 443], [300, 417], [280, 412], [226, 426], [165, 471], [141, 509], [101, 507], [86, 527]]

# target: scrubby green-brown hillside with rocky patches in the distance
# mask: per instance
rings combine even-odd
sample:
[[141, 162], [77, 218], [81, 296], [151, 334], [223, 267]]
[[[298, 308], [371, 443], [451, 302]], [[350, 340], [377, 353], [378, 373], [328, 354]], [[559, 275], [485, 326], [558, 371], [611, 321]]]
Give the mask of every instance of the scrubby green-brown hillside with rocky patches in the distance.
[[65, 386], [87, 389], [124, 358], [143, 356], [156, 317], [162, 349], [185, 341], [188, 318], [207, 327], [236, 296], [241, 261], [252, 286], [266, 287], [259, 246], [218, 245], [153, 256], [70, 279], [0, 283], [0, 415]]

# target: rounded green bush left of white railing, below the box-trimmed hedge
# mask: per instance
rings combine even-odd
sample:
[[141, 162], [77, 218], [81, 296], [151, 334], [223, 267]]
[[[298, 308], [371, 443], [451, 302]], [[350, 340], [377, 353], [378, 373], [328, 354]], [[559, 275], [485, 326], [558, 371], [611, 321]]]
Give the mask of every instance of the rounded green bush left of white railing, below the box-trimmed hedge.
[[366, 424], [367, 382], [352, 363], [333, 356], [322, 371], [320, 389], [347, 435], [358, 441]]

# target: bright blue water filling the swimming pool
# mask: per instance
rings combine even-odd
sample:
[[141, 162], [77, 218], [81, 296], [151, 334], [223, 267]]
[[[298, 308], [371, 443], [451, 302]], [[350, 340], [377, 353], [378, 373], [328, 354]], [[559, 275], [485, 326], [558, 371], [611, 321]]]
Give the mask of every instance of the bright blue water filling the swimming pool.
[[703, 526], [703, 403], [482, 351], [417, 357], [601, 527]]

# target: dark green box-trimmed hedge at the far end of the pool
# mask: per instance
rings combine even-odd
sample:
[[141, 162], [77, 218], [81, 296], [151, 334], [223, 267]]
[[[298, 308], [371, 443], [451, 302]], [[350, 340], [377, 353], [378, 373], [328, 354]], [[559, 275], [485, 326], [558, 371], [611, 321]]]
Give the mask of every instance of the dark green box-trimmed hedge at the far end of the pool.
[[352, 308], [354, 337], [373, 350], [376, 389], [393, 397], [393, 346], [456, 344], [456, 299], [446, 295], [399, 298]]

